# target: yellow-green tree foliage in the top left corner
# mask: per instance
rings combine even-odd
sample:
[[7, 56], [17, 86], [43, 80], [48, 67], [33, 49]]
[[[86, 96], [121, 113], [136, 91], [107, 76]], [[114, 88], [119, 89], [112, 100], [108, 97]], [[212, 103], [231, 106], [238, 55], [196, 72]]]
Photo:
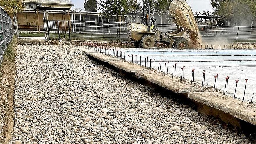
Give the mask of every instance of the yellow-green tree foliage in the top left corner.
[[24, 10], [23, 0], [0, 0], [0, 6], [9, 14]]

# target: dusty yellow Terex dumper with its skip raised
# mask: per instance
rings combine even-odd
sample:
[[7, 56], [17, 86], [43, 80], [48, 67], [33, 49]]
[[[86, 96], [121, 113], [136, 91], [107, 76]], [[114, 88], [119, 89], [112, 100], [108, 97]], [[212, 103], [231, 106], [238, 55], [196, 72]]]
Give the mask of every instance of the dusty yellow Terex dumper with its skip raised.
[[[128, 37], [134, 41], [136, 47], [152, 48], [156, 42], [164, 42], [170, 48], [186, 49], [188, 41], [182, 35], [186, 31], [198, 34], [198, 26], [188, 3], [185, 0], [173, 0], [170, 3], [170, 16], [177, 26], [176, 31], [161, 33], [156, 25], [154, 17], [150, 18], [150, 5], [148, 7], [148, 19], [144, 19], [145, 5], [143, 6], [143, 17], [141, 24], [128, 24]], [[146, 21], [146, 22], [145, 22]]]

